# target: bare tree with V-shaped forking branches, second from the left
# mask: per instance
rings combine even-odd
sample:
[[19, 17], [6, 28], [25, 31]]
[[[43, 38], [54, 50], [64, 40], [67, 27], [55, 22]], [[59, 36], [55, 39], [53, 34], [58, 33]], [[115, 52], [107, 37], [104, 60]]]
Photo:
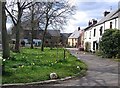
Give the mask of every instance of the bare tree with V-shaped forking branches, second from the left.
[[12, 1], [11, 4], [8, 6], [11, 9], [11, 11], [9, 11], [7, 7], [5, 7], [15, 27], [15, 32], [16, 32], [15, 52], [20, 52], [20, 49], [19, 49], [20, 28], [21, 28], [21, 18], [23, 15], [23, 11], [26, 8], [30, 7], [31, 3], [32, 2], [27, 2], [27, 1], [22, 2], [21, 0], [17, 0], [17, 2]]

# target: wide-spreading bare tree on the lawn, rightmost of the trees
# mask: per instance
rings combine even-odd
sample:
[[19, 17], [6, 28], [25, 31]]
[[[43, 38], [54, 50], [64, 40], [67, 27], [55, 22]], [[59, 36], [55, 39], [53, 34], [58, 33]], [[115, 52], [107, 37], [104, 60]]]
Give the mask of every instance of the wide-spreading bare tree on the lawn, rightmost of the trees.
[[39, 26], [44, 30], [41, 51], [44, 51], [45, 36], [48, 28], [61, 30], [67, 23], [75, 7], [70, 6], [65, 0], [60, 2], [41, 2], [39, 5]]

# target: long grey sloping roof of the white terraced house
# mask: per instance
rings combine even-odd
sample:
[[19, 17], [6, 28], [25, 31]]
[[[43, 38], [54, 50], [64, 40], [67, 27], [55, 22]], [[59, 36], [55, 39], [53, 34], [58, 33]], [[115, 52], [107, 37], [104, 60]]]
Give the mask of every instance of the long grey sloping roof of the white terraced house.
[[106, 21], [109, 21], [109, 20], [111, 20], [111, 19], [113, 19], [113, 18], [118, 17], [118, 12], [119, 12], [119, 11], [120, 11], [120, 10], [117, 9], [117, 10], [114, 10], [114, 11], [110, 12], [107, 16], [103, 17], [103, 18], [102, 18], [97, 24], [95, 24], [94, 26], [97, 26], [97, 25], [102, 24], [102, 23], [104, 23], [104, 22], [106, 22]]

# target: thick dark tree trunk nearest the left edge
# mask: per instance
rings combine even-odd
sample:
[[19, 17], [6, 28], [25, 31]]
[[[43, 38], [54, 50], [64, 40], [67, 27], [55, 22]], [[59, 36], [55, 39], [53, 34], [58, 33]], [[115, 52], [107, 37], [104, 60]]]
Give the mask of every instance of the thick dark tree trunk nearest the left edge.
[[10, 48], [9, 48], [7, 29], [6, 29], [5, 4], [6, 2], [2, 2], [2, 49], [3, 49], [3, 58], [7, 59], [10, 57]]

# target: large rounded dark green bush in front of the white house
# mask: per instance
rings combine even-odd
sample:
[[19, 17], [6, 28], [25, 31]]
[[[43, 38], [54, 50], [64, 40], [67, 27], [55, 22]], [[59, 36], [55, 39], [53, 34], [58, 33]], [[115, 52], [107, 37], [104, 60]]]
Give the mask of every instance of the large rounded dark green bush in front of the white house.
[[120, 57], [120, 30], [107, 29], [100, 41], [102, 55], [107, 58]]

